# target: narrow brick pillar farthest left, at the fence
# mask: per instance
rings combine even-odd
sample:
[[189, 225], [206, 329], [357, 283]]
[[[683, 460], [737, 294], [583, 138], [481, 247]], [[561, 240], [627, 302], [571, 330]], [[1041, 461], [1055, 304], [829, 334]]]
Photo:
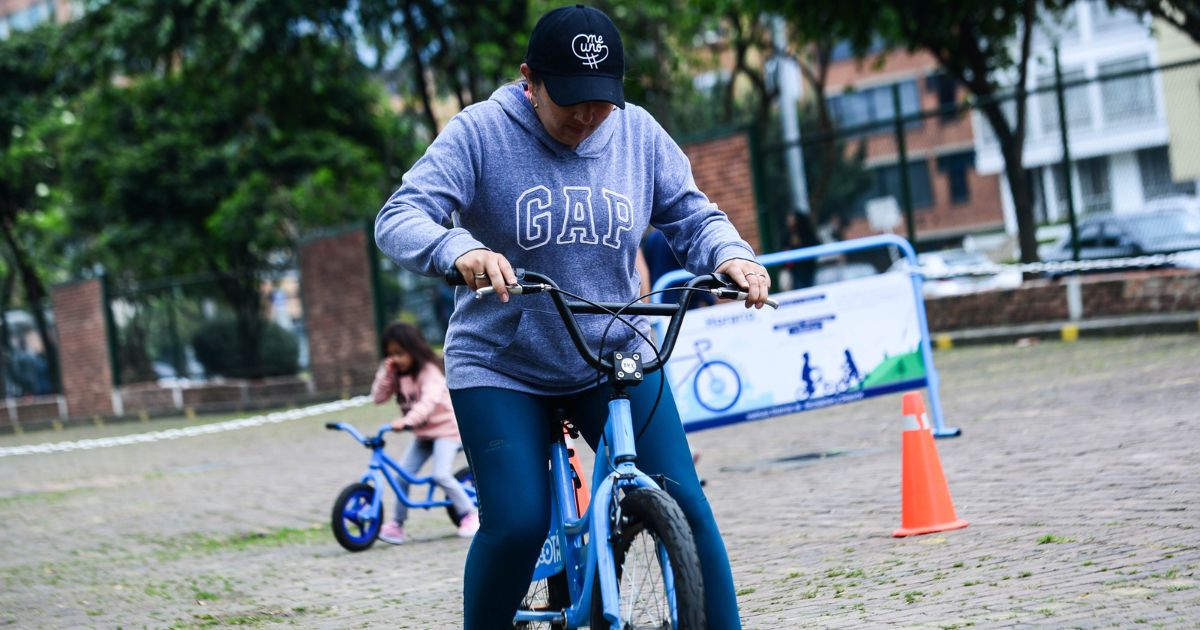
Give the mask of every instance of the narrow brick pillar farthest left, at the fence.
[[113, 368], [100, 281], [54, 287], [53, 300], [67, 415], [113, 415]]

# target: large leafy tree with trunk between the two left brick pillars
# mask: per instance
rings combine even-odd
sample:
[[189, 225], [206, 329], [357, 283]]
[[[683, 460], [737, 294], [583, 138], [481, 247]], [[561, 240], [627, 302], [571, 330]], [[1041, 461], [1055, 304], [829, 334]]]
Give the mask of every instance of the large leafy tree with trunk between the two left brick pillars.
[[121, 282], [215, 277], [245, 373], [262, 366], [262, 272], [306, 229], [370, 216], [414, 152], [343, 13], [133, 0], [72, 26], [109, 78], [80, 100], [65, 146], [72, 222]]

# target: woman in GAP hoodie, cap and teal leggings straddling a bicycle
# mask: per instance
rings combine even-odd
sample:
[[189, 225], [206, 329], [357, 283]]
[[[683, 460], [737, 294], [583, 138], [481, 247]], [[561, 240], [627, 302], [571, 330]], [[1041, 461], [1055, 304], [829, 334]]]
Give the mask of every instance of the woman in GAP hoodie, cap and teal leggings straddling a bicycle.
[[[380, 210], [376, 240], [403, 266], [457, 269], [446, 379], [479, 492], [481, 527], [467, 556], [468, 630], [511, 628], [550, 522], [547, 427], [565, 409], [595, 448], [607, 384], [568, 340], [547, 295], [509, 301], [514, 268], [536, 269], [595, 301], [637, 296], [635, 259], [648, 224], [694, 272], [727, 274], [762, 307], [770, 281], [688, 158], [642, 108], [626, 106], [620, 34], [581, 5], [551, 11], [529, 37], [522, 80], [457, 114]], [[445, 226], [452, 224], [446, 228]], [[498, 299], [475, 300], [491, 286]], [[608, 317], [581, 319], [594, 349], [646, 341]], [[648, 335], [644, 322], [635, 323]], [[630, 390], [638, 468], [667, 479], [695, 535], [712, 628], [739, 628], [725, 544], [700, 487], [661, 373]]]

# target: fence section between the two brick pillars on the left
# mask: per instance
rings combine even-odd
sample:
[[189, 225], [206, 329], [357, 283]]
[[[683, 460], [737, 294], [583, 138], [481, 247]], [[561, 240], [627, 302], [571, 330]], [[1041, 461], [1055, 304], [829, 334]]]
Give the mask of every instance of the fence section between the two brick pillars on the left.
[[[241, 318], [229, 306], [228, 286], [223, 287], [230, 280], [109, 281], [116, 383], [293, 376], [304, 370], [308, 361], [298, 275], [287, 271], [252, 281], [257, 308]], [[244, 352], [245, 338], [258, 340], [257, 353]]]

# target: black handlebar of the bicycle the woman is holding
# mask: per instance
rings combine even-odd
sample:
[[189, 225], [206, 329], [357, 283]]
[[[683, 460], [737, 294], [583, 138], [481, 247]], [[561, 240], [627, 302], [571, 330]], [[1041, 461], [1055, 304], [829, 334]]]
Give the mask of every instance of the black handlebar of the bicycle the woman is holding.
[[[659, 355], [653, 360], [642, 364], [642, 372], [649, 374], [660, 370], [662, 365], [667, 362], [667, 359], [671, 358], [671, 353], [674, 350], [676, 338], [679, 336], [679, 329], [683, 325], [684, 313], [688, 311], [688, 306], [691, 304], [691, 299], [696, 290], [707, 290], [718, 298], [727, 300], [745, 300], [748, 296], [746, 292], [739, 290], [733, 281], [725, 274], [707, 274], [689, 280], [684, 288], [679, 289], [680, 295], [676, 304], [644, 304], [640, 301], [632, 304], [588, 302], [568, 299], [563, 294], [563, 290], [558, 288], [558, 284], [556, 284], [548, 276], [524, 269], [515, 269], [514, 271], [517, 276], [517, 282], [508, 287], [509, 293], [514, 295], [526, 295], [542, 292], [550, 293], [551, 300], [554, 302], [554, 308], [563, 319], [563, 325], [566, 326], [566, 332], [571, 337], [571, 343], [575, 344], [575, 349], [580, 353], [580, 356], [582, 356], [589, 366], [606, 373], [613, 372], [614, 366], [612, 361], [605, 359], [604, 356], [598, 356], [596, 353], [588, 347], [587, 340], [583, 337], [583, 331], [580, 329], [578, 320], [575, 318], [576, 314], [670, 317], [671, 320], [667, 323], [667, 330], [662, 336], [662, 347], [659, 349]], [[467, 283], [466, 278], [461, 272], [458, 272], [457, 269], [448, 271], [445, 281], [450, 286], [464, 286]], [[475, 290], [475, 299], [484, 298], [492, 293], [496, 293], [494, 288], [481, 287]], [[767, 305], [772, 308], [779, 308], [779, 302], [775, 300], [768, 299]]]

